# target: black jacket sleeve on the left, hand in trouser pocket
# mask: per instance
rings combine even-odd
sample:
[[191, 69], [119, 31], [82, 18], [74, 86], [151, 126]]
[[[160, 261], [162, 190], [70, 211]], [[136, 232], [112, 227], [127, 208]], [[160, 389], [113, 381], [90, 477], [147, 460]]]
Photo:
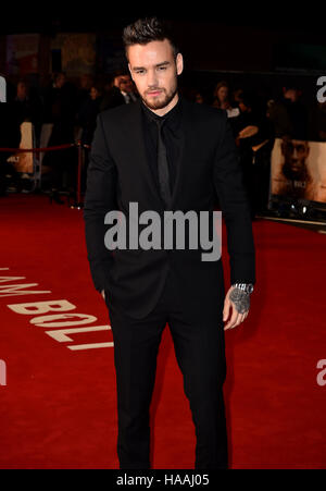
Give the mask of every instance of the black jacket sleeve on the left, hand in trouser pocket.
[[96, 290], [110, 291], [110, 266], [112, 251], [104, 245], [109, 225], [104, 224], [108, 211], [116, 208], [116, 167], [110, 155], [103, 130], [102, 115], [97, 118], [84, 204], [87, 257]]

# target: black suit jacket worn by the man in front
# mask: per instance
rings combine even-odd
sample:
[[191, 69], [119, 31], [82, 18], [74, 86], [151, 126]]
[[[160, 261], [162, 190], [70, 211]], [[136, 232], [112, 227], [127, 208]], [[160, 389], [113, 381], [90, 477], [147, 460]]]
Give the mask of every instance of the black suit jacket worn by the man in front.
[[[110, 251], [104, 216], [137, 201], [139, 213], [163, 220], [153, 168], [148, 162], [139, 100], [99, 114], [88, 167], [84, 218], [90, 271], [98, 291], [117, 308], [143, 318], [155, 306], [171, 266], [187, 315], [218, 316], [224, 303], [222, 259], [202, 261], [202, 249]], [[230, 281], [255, 283], [255, 254], [247, 191], [226, 112], [181, 100], [183, 138], [172, 210], [213, 213], [218, 199], [227, 228]], [[128, 226], [127, 226], [128, 229]], [[139, 228], [140, 229], [140, 228]], [[141, 229], [140, 229], [141, 230]], [[186, 241], [187, 243], [187, 241]]]

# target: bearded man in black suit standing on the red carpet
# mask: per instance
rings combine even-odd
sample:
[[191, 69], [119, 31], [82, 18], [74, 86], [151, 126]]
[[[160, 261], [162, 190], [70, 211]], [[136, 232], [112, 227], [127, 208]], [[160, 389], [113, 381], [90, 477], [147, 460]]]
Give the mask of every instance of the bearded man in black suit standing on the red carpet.
[[[255, 282], [239, 157], [226, 113], [178, 96], [183, 56], [163, 23], [139, 20], [124, 29], [124, 42], [140, 100], [99, 115], [84, 208], [90, 270], [114, 337], [120, 468], [151, 466], [149, 407], [167, 322], [196, 426], [195, 468], [225, 469], [224, 330], [248, 316]], [[206, 211], [212, 218], [217, 197], [230, 256], [226, 296], [221, 258], [202, 260], [203, 247], [191, 248], [189, 233], [184, 248], [130, 246], [130, 204], [139, 214], [155, 212], [162, 220], [166, 211]], [[108, 244], [104, 217], [111, 210], [126, 220], [125, 249]], [[145, 224], [137, 224], [139, 242]]]

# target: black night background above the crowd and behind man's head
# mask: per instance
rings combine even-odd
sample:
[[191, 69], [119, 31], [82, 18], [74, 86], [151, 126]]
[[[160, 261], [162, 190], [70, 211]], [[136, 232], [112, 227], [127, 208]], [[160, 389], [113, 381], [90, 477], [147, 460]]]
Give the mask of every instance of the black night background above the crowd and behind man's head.
[[[5, 36], [39, 33], [38, 84], [49, 82], [49, 49], [58, 33], [95, 33], [121, 42], [123, 27], [138, 17], [171, 21], [185, 59], [180, 84], [212, 94], [225, 79], [264, 99], [276, 98], [286, 84], [302, 88], [316, 103], [317, 78], [326, 74], [325, 8], [301, 2], [8, 2], [0, 15], [0, 73], [5, 75]], [[122, 45], [122, 42], [121, 42]], [[55, 52], [52, 52], [52, 65]], [[60, 60], [58, 59], [58, 64]], [[101, 71], [99, 54], [98, 71]], [[34, 81], [32, 79], [32, 84]]]

